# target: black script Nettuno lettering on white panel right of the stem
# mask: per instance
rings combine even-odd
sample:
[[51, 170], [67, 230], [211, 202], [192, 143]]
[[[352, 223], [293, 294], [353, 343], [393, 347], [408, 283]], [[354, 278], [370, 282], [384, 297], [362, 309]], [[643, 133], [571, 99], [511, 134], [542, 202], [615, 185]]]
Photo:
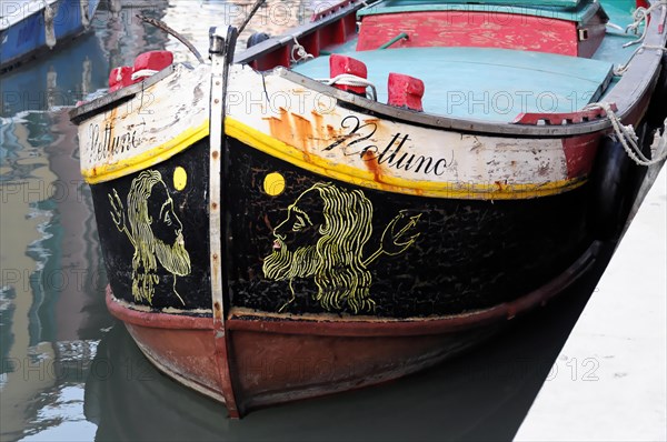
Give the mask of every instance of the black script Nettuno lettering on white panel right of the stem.
[[384, 147], [372, 144], [374, 141], [370, 139], [378, 129], [377, 124], [375, 122], [361, 124], [356, 115], [346, 117], [340, 127], [347, 130], [347, 133], [326, 147], [325, 151], [340, 147], [346, 157], [358, 155], [364, 161], [387, 164], [388, 168], [396, 170], [402, 169], [414, 173], [435, 174], [437, 177], [442, 175], [448, 164], [454, 162], [454, 160], [447, 161], [445, 158], [435, 159], [410, 152], [409, 149], [414, 149], [414, 145], [408, 144], [408, 141], [411, 140], [409, 133], [394, 133]]

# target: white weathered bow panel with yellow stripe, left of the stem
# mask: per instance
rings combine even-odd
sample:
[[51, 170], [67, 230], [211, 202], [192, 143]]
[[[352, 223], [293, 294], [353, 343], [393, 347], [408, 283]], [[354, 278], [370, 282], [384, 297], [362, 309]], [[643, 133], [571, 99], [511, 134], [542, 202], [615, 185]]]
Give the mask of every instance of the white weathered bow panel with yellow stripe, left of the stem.
[[88, 182], [150, 168], [208, 135], [210, 67], [176, 64], [171, 73], [79, 124], [81, 174]]

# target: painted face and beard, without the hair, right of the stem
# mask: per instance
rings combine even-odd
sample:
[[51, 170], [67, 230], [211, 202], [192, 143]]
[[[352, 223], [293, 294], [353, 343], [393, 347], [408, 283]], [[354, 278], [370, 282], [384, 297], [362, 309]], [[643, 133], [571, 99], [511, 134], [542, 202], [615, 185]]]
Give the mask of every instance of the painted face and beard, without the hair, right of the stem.
[[319, 192], [303, 193], [288, 208], [287, 219], [273, 229], [272, 252], [265, 259], [263, 273], [270, 280], [309, 278], [319, 265], [317, 243], [325, 223]]

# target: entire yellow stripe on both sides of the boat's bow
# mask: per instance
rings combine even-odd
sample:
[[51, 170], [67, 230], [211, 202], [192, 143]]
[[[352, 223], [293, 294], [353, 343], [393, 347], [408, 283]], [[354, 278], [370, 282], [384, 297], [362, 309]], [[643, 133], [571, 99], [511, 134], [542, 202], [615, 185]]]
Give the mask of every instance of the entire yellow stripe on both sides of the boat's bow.
[[[150, 149], [147, 152], [127, 160], [122, 160], [112, 164], [104, 164], [92, 170], [83, 170], [82, 174], [87, 182], [96, 184], [110, 181], [142, 169], [148, 169], [186, 150], [205, 137], [208, 137], [208, 127], [209, 121], [206, 120], [198, 128], [188, 129], [165, 144]], [[271, 157], [287, 161], [298, 168], [354, 185], [389, 192], [466, 200], [512, 200], [559, 194], [576, 189], [586, 182], [585, 179], [574, 179], [552, 181], [541, 184], [457, 184], [436, 181], [406, 180], [396, 177], [382, 177], [382, 181], [379, 182], [370, 171], [360, 170], [346, 164], [334, 163], [316, 155], [309, 155], [308, 153], [292, 145], [289, 145], [232, 118], [228, 117], [225, 120], [225, 129], [229, 137], [236, 138], [245, 144], [248, 144]]]

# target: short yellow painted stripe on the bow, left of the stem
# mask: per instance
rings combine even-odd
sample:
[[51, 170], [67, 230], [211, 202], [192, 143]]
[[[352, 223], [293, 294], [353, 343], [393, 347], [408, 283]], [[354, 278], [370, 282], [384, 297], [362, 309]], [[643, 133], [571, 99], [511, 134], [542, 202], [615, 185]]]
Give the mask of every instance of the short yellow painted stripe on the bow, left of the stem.
[[81, 170], [81, 174], [90, 184], [115, 180], [130, 173], [149, 169], [175, 154], [182, 152], [197, 141], [208, 137], [209, 122], [206, 120], [197, 128], [190, 128], [163, 144], [152, 148], [136, 157], [120, 160], [115, 163], [103, 164], [93, 169]]

